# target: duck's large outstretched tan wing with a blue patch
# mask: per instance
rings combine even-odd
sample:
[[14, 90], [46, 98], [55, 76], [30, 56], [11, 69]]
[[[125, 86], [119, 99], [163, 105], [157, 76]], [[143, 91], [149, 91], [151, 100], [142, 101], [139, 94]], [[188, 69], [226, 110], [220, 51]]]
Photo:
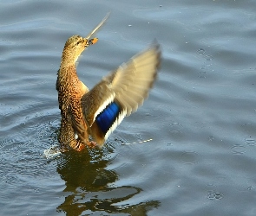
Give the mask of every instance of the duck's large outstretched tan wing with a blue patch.
[[82, 113], [99, 145], [148, 97], [161, 60], [158, 43], [136, 54], [82, 97]]

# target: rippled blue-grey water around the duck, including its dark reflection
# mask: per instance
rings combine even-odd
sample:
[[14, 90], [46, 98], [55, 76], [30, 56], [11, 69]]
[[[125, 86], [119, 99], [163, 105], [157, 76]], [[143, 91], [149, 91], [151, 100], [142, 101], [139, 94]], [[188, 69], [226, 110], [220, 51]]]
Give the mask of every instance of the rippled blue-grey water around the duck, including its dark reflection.
[[[255, 215], [255, 1], [0, 4], [1, 215]], [[47, 159], [63, 45], [108, 11], [82, 81], [154, 38], [159, 79], [102, 150]]]

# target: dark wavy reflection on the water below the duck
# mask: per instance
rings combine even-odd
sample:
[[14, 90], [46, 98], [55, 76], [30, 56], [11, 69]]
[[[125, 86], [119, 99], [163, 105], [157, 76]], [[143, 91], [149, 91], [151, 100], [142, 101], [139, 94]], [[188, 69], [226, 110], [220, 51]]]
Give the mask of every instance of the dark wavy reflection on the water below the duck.
[[[65, 200], [57, 212], [67, 215], [102, 213], [128, 213], [146, 215], [152, 208], [160, 206], [158, 200], [128, 204], [129, 199], [141, 193], [141, 188], [132, 186], [115, 187], [118, 175], [108, 169], [113, 158], [106, 158], [113, 150], [106, 145], [102, 150], [90, 152], [66, 152], [59, 160], [57, 172], [66, 182]], [[127, 202], [126, 202], [127, 201]]]

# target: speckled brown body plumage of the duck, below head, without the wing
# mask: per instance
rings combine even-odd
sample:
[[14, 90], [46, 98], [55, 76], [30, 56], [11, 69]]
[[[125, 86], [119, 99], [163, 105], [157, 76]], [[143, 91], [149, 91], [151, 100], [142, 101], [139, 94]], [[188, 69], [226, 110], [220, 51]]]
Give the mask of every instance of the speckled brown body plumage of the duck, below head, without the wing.
[[[82, 124], [83, 130], [87, 131], [87, 126], [82, 118], [81, 98], [89, 90], [84, 88], [82, 82], [78, 79], [75, 66], [61, 67], [58, 72], [56, 88], [58, 91], [59, 108], [62, 114], [59, 142], [64, 147], [70, 146], [73, 149], [80, 149], [82, 143], [75, 139], [73, 122]], [[88, 135], [84, 135], [83, 138], [86, 137]]]

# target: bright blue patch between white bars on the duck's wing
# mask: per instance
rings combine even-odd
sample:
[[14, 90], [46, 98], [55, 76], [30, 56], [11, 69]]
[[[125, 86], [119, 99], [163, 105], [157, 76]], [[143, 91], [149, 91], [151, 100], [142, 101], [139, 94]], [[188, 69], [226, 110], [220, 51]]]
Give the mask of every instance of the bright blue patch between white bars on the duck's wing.
[[118, 116], [119, 111], [119, 106], [113, 102], [96, 117], [96, 122], [104, 134], [107, 133], [109, 128], [111, 128], [112, 124], [115, 122], [115, 118]]

